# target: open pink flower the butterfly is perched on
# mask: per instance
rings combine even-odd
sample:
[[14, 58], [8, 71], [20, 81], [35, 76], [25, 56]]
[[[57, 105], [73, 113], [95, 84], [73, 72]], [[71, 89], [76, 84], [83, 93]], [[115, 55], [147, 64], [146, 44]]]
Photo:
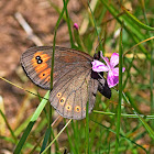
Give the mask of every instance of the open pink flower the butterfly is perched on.
[[[109, 88], [114, 87], [119, 82], [119, 67], [116, 67], [119, 64], [119, 54], [113, 53], [111, 55], [110, 62], [107, 57], [102, 56], [102, 59], [106, 62], [107, 65], [101, 63], [100, 61], [94, 59], [92, 63], [92, 70], [97, 73], [108, 72], [107, 82]], [[122, 68], [124, 73], [125, 68]]]

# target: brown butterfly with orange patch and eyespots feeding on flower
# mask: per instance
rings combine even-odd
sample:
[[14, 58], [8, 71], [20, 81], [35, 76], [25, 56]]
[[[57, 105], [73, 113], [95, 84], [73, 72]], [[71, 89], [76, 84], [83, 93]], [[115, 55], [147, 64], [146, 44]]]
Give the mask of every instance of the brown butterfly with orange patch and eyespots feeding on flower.
[[[26, 76], [38, 87], [51, 89], [52, 46], [31, 47], [21, 56], [21, 65]], [[72, 48], [55, 47], [53, 89], [50, 102], [64, 118], [81, 120], [86, 118], [86, 105], [92, 111], [96, 94], [111, 97], [111, 90], [103, 73], [92, 72], [91, 62], [100, 59], [100, 52], [90, 55]]]

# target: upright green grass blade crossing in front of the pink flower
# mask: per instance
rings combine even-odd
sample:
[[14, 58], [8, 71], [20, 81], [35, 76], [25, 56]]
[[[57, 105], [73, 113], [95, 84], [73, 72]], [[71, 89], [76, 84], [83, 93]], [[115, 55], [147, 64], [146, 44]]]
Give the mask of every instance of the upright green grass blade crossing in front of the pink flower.
[[119, 138], [120, 138], [120, 123], [121, 123], [121, 101], [122, 101], [122, 28], [120, 32], [119, 41], [119, 103], [117, 108], [117, 138], [116, 138], [116, 154], [118, 154], [119, 148]]

